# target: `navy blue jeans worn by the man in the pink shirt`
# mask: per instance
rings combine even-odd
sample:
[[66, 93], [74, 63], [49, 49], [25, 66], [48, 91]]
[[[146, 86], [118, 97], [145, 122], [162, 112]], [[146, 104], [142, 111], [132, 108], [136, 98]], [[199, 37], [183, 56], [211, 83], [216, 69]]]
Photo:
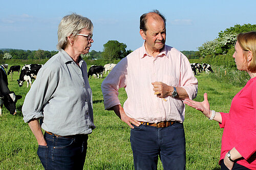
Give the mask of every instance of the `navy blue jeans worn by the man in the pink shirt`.
[[166, 128], [140, 125], [131, 129], [134, 167], [157, 169], [158, 155], [164, 169], [185, 169], [185, 133], [183, 124], [174, 123]]

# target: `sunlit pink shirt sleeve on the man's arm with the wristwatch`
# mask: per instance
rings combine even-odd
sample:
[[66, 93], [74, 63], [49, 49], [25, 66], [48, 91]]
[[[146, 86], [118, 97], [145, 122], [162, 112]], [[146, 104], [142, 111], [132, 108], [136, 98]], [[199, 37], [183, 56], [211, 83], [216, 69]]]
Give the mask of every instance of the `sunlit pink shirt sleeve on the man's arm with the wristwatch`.
[[188, 94], [189, 99], [193, 100], [197, 96], [198, 81], [194, 76], [188, 59], [184, 56], [181, 61], [180, 85]]

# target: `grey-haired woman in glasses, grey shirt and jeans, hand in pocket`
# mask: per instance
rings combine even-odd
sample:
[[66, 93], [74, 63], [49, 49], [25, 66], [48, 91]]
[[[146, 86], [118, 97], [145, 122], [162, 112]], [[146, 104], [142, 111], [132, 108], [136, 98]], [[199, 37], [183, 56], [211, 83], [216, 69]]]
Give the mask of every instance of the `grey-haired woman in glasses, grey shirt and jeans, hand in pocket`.
[[75, 13], [63, 17], [59, 52], [42, 66], [26, 95], [24, 121], [36, 137], [45, 169], [83, 169], [88, 134], [95, 125], [87, 64], [80, 55], [89, 53], [92, 33], [87, 17]]

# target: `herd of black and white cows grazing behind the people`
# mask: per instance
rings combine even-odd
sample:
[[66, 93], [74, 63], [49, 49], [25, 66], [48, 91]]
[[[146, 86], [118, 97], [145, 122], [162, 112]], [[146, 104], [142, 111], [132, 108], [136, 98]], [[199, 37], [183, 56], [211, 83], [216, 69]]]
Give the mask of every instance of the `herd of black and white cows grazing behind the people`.
[[[203, 63], [193, 63], [190, 64], [191, 68], [195, 75], [197, 75], [197, 72], [203, 72], [205, 71], [206, 74], [209, 74], [209, 72], [214, 72], [211, 69], [211, 66], [209, 64]], [[101, 65], [92, 65], [89, 68], [88, 71], [88, 78], [91, 76], [94, 76], [95, 78], [99, 79], [103, 78], [103, 74], [106, 74], [106, 72], [110, 72], [116, 64], [106, 64], [104, 66]], [[0, 69], [0, 116], [2, 115], [2, 108], [3, 105], [7, 108], [7, 110], [10, 111], [10, 114], [15, 115], [16, 114], [16, 102], [17, 100], [21, 99], [21, 95], [15, 95], [13, 91], [10, 91], [8, 88], [8, 79], [7, 75], [11, 74], [11, 80], [12, 75], [14, 71], [18, 72], [19, 79], [17, 80], [19, 87], [23, 86], [24, 82], [27, 82], [27, 87], [31, 87], [32, 85], [32, 79], [36, 79], [38, 70], [42, 67], [42, 64], [26, 64], [22, 67], [22, 70], [20, 71], [20, 65], [13, 65], [8, 70], [8, 64], [2, 64]], [[7, 69], [7, 74], [5, 71], [5, 68]]]

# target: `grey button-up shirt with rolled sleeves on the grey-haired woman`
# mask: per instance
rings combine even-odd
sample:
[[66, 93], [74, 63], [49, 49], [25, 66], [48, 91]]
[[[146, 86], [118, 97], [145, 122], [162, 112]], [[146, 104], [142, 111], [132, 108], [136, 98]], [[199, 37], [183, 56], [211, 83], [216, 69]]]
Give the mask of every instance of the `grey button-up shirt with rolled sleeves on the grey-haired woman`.
[[22, 107], [25, 123], [42, 118], [42, 129], [61, 136], [92, 133], [92, 90], [86, 62], [79, 65], [61, 50], [42, 66]]

